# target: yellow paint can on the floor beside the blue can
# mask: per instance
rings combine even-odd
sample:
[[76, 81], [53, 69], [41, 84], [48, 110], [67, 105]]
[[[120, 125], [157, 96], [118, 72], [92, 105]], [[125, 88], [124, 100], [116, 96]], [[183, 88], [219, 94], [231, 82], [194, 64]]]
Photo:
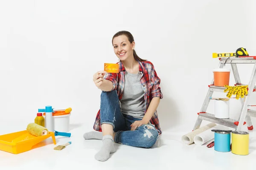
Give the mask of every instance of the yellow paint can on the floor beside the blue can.
[[249, 133], [245, 131], [232, 131], [231, 152], [236, 155], [249, 154]]

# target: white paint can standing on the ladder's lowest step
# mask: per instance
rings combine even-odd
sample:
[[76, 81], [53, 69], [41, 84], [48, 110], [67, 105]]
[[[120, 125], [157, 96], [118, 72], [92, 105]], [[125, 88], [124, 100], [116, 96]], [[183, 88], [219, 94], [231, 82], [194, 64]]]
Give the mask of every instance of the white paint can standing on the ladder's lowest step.
[[230, 102], [224, 100], [215, 99], [215, 118], [229, 119], [230, 116]]

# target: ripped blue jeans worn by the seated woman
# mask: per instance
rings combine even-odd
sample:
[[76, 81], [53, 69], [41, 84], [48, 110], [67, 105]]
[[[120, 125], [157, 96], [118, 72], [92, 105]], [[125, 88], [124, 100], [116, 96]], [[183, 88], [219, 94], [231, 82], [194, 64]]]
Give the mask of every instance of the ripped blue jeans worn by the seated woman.
[[158, 132], [154, 125], [148, 123], [131, 131], [130, 125], [141, 119], [122, 114], [119, 103], [116, 90], [102, 91], [100, 103], [101, 125], [106, 123], [113, 126], [113, 131], [116, 132], [114, 137], [116, 143], [134, 147], [152, 147], [158, 138]]

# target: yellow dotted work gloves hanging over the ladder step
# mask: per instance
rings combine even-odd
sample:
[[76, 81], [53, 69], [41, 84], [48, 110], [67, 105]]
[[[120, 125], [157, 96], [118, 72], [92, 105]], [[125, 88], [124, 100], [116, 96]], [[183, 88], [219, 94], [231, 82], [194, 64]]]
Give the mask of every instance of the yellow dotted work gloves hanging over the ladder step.
[[229, 85], [224, 85], [226, 88], [224, 92], [227, 92], [227, 97], [230, 98], [232, 95], [236, 95], [236, 99], [239, 99], [240, 96], [241, 98], [244, 97], [244, 95], [248, 94], [247, 87], [248, 85], [239, 85], [239, 86], [229, 86]]

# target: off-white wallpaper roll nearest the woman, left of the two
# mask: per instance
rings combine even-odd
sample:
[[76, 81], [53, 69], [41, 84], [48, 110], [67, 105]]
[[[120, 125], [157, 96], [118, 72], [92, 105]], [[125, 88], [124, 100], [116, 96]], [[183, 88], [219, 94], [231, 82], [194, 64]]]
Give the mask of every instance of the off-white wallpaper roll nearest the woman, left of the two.
[[200, 127], [192, 132], [187, 133], [186, 135], [183, 135], [181, 140], [185, 143], [185, 144], [192, 144], [194, 142], [194, 137], [196, 135], [198, 135], [199, 133], [202, 133], [212, 127], [216, 126], [215, 123], [209, 123], [203, 127]]

